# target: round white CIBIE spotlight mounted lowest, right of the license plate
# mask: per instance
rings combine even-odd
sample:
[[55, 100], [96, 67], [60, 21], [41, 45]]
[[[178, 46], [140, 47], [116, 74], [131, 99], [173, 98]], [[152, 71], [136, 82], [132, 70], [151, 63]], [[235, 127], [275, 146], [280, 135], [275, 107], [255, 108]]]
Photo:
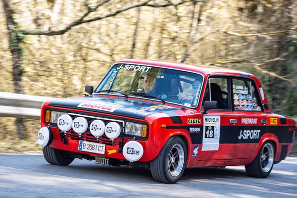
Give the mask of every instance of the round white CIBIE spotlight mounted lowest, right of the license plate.
[[123, 147], [123, 155], [130, 162], [139, 160], [144, 154], [143, 146], [137, 141], [127, 142]]

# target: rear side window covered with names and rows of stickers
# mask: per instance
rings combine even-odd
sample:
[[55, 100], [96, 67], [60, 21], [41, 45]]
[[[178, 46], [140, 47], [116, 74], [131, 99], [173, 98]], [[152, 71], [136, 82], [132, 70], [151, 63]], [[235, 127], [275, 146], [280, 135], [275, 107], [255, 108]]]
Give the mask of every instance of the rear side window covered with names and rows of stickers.
[[262, 111], [257, 88], [251, 80], [232, 80], [234, 110]]

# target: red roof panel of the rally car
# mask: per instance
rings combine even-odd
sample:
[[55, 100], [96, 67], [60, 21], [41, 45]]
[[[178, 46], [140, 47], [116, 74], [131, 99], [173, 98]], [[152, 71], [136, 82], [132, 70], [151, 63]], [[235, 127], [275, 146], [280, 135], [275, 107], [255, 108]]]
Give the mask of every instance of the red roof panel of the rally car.
[[191, 63], [180, 63], [180, 62], [171, 62], [171, 61], [157, 61], [157, 60], [140, 60], [140, 59], [123, 59], [119, 60], [116, 63], [133, 63], [140, 65], [156, 65], [167, 68], [181, 69], [199, 72], [203, 75], [210, 74], [228, 74], [228, 75], [236, 75], [236, 76], [248, 76], [253, 77], [252, 74], [238, 71], [235, 69], [228, 69], [223, 67], [216, 67], [212, 65], [202, 65], [202, 64], [191, 64]]

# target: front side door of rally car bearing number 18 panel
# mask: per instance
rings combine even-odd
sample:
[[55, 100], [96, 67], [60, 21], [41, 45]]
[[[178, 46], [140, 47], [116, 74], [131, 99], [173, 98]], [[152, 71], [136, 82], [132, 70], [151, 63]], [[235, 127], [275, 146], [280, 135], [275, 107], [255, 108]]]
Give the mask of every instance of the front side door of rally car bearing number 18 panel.
[[208, 110], [207, 114], [202, 113], [203, 138], [198, 160], [234, 158], [237, 139], [233, 134], [236, 133], [233, 128], [237, 114], [232, 111], [230, 90], [231, 78], [229, 77], [211, 76], [207, 81], [202, 102], [217, 101], [218, 108]]

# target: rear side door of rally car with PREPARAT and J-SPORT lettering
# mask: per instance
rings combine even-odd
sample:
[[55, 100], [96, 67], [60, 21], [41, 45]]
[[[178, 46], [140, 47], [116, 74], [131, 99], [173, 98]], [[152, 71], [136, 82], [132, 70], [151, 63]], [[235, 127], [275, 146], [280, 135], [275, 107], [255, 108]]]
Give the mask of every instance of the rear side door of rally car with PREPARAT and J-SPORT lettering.
[[250, 78], [232, 79], [232, 104], [237, 116], [235, 159], [251, 158], [262, 135], [266, 133], [267, 115], [259, 98], [258, 88]]

